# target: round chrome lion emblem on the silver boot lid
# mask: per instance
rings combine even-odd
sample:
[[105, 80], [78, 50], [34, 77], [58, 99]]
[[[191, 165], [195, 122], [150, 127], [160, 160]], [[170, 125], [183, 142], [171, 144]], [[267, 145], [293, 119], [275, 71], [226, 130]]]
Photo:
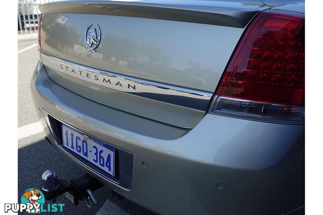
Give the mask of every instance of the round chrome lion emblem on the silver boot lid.
[[101, 29], [98, 25], [93, 26], [92, 24], [87, 27], [84, 35], [84, 42], [87, 51], [95, 51], [101, 40]]

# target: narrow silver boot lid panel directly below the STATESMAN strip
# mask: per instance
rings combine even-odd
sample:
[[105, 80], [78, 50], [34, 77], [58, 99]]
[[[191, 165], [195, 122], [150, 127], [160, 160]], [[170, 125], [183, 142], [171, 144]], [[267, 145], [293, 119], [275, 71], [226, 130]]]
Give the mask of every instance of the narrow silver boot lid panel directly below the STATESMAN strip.
[[[43, 61], [45, 62], [45, 59]], [[59, 83], [66, 89], [78, 93], [85, 98], [90, 98], [93, 101], [128, 113], [184, 128], [194, 127], [205, 115], [205, 110], [202, 111], [174, 105], [168, 102], [152, 100], [142, 96], [102, 87], [63, 74], [60, 71], [52, 69], [48, 64], [45, 65], [45, 68], [50, 79]], [[153, 91], [149, 91], [149, 93], [153, 93]], [[207, 101], [208, 100], [205, 102]]]

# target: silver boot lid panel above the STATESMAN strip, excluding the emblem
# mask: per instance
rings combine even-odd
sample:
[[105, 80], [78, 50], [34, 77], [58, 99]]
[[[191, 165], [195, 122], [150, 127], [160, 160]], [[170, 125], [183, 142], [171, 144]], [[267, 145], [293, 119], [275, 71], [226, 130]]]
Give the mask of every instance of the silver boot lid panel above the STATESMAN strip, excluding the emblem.
[[[101, 28], [96, 52], [84, 45], [91, 23]], [[243, 30], [134, 17], [44, 14], [41, 45], [48, 54], [89, 67], [212, 93]]]

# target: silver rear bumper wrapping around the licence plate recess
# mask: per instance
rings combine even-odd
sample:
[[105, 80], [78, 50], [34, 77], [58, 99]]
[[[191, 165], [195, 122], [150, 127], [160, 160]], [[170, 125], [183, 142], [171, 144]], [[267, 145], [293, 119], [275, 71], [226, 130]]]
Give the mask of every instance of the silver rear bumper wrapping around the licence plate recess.
[[41, 64], [31, 89], [51, 142], [57, 141], [43, 110], [133, 155], [131, 189], [126, 189], [54, 144], [85, 172], [151, 210], [168, 214], [279, 214], [304, 205], [304, 125], [206, 114], [185, 135], [166, 140], [107, 120], [104, 110], [109, 107], [52, 82]]

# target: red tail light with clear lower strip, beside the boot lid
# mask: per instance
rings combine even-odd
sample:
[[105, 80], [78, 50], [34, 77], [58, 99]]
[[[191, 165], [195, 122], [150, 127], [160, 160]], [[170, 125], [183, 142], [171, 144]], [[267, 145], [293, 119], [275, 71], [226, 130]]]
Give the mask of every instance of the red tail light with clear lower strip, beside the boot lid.
[[210, 112], [304, 123], [303, 14], [267, 10], [257, 15], [228, 64]]

